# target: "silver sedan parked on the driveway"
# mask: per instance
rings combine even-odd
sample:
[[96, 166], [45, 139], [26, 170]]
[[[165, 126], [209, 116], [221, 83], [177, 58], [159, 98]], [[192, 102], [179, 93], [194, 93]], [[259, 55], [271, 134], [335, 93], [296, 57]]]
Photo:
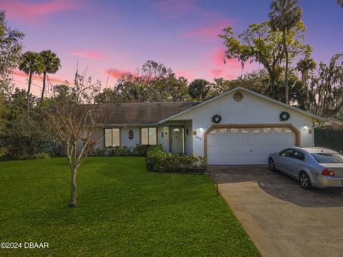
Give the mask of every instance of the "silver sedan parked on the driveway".
[[342, 187], [343, 155], [328, 148], [289, 147], [268, 156], [269, 169], [296, 178], [302, 188]]

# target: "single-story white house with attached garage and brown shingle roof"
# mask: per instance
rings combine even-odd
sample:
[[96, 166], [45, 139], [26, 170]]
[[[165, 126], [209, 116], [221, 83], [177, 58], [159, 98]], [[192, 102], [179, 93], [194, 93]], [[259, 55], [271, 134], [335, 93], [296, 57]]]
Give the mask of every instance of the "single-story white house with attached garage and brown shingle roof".
[[237, 87], [204, 102], [111, 104], [97, 148], [161, 145], [209, 165], [267, 164], [269, 153], [314, 146], [319, 116]]

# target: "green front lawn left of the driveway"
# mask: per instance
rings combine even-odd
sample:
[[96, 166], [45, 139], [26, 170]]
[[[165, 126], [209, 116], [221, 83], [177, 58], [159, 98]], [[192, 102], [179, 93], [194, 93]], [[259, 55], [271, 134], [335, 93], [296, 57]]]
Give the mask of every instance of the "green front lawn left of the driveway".
[[87, 158], [68, 208], [65, 158], [0, 162], [0, 256], [259, 256], [206, 175], [152, 173], [144, 158]]

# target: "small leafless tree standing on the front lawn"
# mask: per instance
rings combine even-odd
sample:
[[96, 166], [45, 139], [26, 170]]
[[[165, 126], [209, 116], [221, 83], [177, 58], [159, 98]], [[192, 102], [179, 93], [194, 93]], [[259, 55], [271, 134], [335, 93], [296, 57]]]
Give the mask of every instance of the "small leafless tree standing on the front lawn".
[[71, 98], [54, 101], [48, 111], [47, 121], [59, 138], [69, 161], [71, 171], [71, 196], [69, 206], [76, 206], [76, 171], [99, 140], [99, 129], [104, 119], [104, 106], [91, 104], [92, 96], [99, 91], [99, 81], [76, 74]]

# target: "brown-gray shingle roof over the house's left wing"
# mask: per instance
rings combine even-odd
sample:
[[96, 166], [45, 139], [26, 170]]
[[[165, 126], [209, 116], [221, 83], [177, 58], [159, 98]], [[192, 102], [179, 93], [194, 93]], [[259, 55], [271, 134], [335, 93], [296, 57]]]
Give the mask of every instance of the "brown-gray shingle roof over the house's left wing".
[[199, 102], [160, 102], [100, 104], [104, 108], [104, 125], [148, 125], [166, 119], [174, 114], [196, 106]]

